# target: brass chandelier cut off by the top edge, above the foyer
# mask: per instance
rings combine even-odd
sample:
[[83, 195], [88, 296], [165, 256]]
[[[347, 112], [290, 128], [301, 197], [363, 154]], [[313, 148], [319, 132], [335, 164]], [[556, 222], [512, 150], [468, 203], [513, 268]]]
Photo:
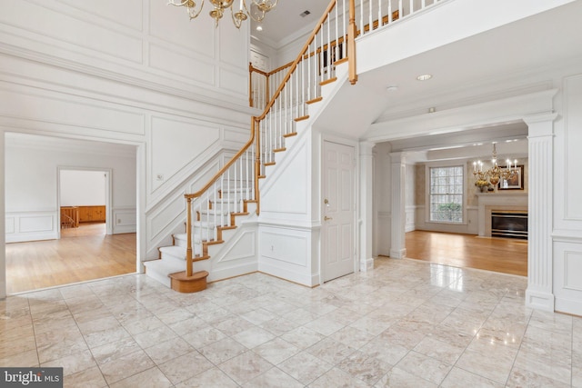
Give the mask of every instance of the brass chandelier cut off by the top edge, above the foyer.
[[[186, 6], [186, 12], [190, 20], [196, 19], [204, 8], [204, 1], [196, 5], [194, 0], [169, 0], [168, 5]], [[225, 10], [230, 8], [230, 15], [236, 28], [240, 28], [243, 22], [250, 17], [256, 22], [262, 22], [267, 12], [276, 7], [279, 0], [208, 0], [214, 7], [208, 14], [215, 19], [216, 27], [225, 14]], [[246, 6], [246, 1], [250, 1], [250, 6]], [[233, 3], [236, 3], [236, 6]]]

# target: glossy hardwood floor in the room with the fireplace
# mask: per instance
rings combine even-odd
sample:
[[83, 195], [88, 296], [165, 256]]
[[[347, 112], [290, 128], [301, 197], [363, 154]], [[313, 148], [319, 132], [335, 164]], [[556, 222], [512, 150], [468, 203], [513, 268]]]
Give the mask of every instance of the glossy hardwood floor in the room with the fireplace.
[[406, 257], [527, 276], [527, 241], [523, 240], [415, 231], [406, 233]]

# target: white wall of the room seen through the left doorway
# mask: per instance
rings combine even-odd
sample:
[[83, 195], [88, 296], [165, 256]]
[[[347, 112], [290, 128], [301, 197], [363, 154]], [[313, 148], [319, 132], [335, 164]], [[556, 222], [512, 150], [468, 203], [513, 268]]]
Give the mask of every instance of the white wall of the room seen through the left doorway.
[[[60, 144], [60, 146], [56, 146]], [[54, 140], [46, 136], [30, 134], [6, 134], [5, 141], [5, 219], [8, 230], [7, 242], [34, 241], [58, 238], [58, 182], [60, 168], [103, 169], [112, 171], [112, 198], [109, 217], [114, 217], [114, 234], [135, 232], [136, 164], [135, 146], [115, 146], [107, 153], [102, 144], [90, 142]], [[79, 172], [64, 172], [74, 181], [71, 191], [84, 195], [91, 204], [105, 204], [105, 179], [97, 174], [85, 189], [98, 193], [85, 194], [76, 191]], [[65, 180], [66, 182], [66, 180]], [[76, 186], [76, 187], [75, 187]], [[70, 199], [71, 205], [88, 205]], [[65, 205], [65, 204], [63, 204]], [[115, 215], [121, 212], [117, 218]], [[123, 216], [121, 216], [123, 214]]]

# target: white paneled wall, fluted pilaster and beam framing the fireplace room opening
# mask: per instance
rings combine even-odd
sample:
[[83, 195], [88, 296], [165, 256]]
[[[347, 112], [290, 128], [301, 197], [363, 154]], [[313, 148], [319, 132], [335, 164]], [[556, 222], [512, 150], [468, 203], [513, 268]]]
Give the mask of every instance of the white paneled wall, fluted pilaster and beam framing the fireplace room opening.
[[[500, 116], [523, 117], [529, 131], [525, 163], [530, 233], [536, 230], [536, 237], [528, 241], [527, 305], [577, 315], [582, 314], [582, 278], [577, 275], [582, 271], [582, 205], [577, 199], [582, 190], [577, 171], [582, 165], [579, 69], [579, 61], [574, 61], [541, 75], [537, 82], [548, 85], [544, 92], [443, 111], [447, 124], [436, 125], [426, 115], [394, 123], [398, 130], [415, 136], [445, 126], [495, 124]], [[386, 125], [386, 140], [394, 135], [392, 129]], [[467, 193], [471, 190], [467, 188]]]

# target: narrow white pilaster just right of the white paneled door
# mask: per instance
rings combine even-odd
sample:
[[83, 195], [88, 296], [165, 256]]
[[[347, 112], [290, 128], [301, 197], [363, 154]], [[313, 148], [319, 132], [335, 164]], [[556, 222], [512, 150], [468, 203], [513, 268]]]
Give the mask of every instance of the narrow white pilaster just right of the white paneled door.
[[374, 233], [374, 159], [373, 143], [360, 143], [360, 271], [366, 272], [374, 268], [373, 233]]

